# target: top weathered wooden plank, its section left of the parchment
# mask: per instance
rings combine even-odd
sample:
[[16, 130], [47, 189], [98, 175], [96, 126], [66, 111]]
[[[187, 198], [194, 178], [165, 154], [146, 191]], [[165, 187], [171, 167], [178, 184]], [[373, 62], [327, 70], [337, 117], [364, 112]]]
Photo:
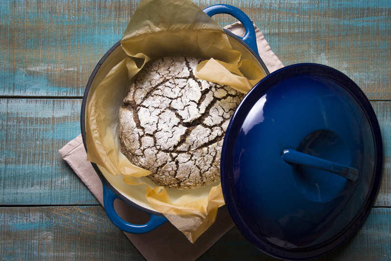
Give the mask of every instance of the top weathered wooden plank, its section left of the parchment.
[[0, 95], [83, 95], [138, 2], [2, 1]]

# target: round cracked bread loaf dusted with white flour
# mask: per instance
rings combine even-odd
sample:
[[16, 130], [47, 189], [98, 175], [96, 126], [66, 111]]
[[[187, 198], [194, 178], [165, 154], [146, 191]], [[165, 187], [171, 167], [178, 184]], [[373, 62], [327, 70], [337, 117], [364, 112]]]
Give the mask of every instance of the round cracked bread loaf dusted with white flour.
[[194, 57], [165, 57], [140, 71], [119, 112], [121, 152], [153, 183], [192, 189], [220, 179], [229, 120], [244, 94], [195, 78]]

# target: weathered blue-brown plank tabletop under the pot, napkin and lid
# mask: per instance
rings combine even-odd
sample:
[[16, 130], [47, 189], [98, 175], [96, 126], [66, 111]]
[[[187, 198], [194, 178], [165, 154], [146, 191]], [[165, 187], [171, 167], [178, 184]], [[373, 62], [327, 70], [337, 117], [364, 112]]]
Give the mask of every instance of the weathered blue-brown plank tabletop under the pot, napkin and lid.
[[[87, 79], [121, 38], [138, 2], [0, 1], [1, 260], [144, 260], [57, 152], [80, 134]], [[317, 260], [391, 260], [391, 2], [195, 3], [239, 7], [284, 65], [328, 65], [362, 88], [383, 135], [382, 185], [362, 227]], [[233, 228], [199, 260], [274, 259]]]

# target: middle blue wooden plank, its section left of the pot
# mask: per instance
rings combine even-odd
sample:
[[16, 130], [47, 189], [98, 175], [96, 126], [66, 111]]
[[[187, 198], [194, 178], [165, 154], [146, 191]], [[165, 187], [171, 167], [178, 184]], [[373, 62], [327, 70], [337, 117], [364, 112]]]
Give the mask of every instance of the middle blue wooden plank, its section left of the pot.
[[58, 150], [80, 134], [80, 99], [0, 99], [0, 205], [98, 204]]

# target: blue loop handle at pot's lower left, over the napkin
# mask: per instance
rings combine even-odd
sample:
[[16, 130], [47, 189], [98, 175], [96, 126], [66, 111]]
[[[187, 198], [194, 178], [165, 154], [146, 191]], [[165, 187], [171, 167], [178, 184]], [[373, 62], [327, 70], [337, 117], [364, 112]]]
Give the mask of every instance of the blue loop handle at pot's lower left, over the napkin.
[[[103, 185], [103, 203], [105, 205], [106, 214], [109, 216], [111, 222], [120, 230], [131, 233], [131, 234], [143, 234], [148, 233], [159, 226], [166, 223], [168, 220], [164, 216], [158, 216], [149, 214], [151, 219], [143, 225], [134, 225], [123, 220], [114, 210], [114, 200], [116, 198], [121, 199], [117, 196], [109, 187], [102, 182]], [[122, 199], [121, 199], [122, 200]]]

